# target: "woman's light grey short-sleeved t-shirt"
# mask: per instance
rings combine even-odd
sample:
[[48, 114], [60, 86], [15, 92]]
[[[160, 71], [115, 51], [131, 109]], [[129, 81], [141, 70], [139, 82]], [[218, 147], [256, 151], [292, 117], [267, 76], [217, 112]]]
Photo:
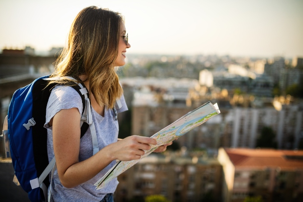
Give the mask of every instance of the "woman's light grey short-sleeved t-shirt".
[[[125, 103], [124, 96], [120, 98], [122, 107], [117, 112], [124, 112], [128, 110]], [[81, 96], [76, 90], [67, 86], [56, 86], [49, 97], [46, 107], [46, 122], [44, 127], [47, 129], [47, 154], [48, 161], [54, 157], [53, 148], [53, 134], [52, 127], [49, 127], [48, 122], [54, 115], [63, 109], [78, 108], [81, 115], [83, 104]], [[118, 138], [118, 121], [115, 120], [115, 115], [112, 109], [105, 109], [104, 117], [92, 109], [92, 120], [95, 124], [96, 134], [98, 139], [99, 150], [117, 141]], [[80, 124], [80, 122], [79, 122]], [[80, 137], [79, 137], [80, 138]], [[79, 161], [83, 161], [92, 156], [93, 147], [91, 140], [90, 129], [88, 128], [85, 135], [80, 139]], [[100, 159], [102, 160], [102, 159]], [[115, 178], [111, 180], [106, 187], [96, 190], [94, 183], [98, 181], [106, 172], [115, 164], [112, 161], [105, 169], [98, 173], [95, 177], [73, 188], [65, 188], [58, 177], [57, 170], [55, 170], [52, 180], [51, 195], [55, 202], [71, 201], [71, 202], [99, 202], [105, 194], [114, 193], [118, 185], [118, 180]], [[84, 171], [85, 172], [85, 171]]]

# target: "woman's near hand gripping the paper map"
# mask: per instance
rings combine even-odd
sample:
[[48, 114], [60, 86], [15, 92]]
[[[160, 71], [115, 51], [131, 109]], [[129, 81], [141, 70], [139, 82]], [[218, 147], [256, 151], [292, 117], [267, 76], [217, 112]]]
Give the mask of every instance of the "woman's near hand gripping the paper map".
[[157, 141], [144, 136], [131, 135], [115, 143], [109, 144], [109, 155], [115, 160], [129, 161], [140, 159], [145, 154], [143, 150], [150, 150], [150, 144], [157, 144]]

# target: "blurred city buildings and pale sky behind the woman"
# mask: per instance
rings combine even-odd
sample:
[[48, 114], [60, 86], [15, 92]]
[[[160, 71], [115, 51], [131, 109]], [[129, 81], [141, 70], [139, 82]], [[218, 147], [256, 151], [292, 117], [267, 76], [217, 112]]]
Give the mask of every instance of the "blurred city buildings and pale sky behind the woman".
[[[121, 174], [115, 202], [303, 201], [302, 0], [0, 0], [0, 129], [90, 5], [122, 13], [129, 33], [120, 138], [207, 101], [221, 111]], [[28, 201], [1, 137], [0, 157], [0, 201]]]

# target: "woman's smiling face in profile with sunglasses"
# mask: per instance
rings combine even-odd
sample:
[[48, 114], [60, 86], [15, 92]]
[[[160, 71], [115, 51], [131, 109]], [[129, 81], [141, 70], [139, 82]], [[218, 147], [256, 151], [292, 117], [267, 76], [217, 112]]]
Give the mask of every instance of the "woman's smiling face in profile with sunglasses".
[[115, 60], [115, 67], [124, 66], [126, 58], [126, 49], [130, 48], [130, 44], [126, 45], [126, 28], [123, 22], [121, 22], [120, 40], [118, 45], [118, 56]]

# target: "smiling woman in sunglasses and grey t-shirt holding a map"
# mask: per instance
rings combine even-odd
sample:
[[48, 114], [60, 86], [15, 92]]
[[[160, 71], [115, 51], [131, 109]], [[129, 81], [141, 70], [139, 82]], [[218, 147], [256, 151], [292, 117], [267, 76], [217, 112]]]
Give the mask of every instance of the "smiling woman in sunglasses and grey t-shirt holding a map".
[[[154, 139], [143, 136], [117, 141], [118, 123], [113, 111], [116, 99], [122, 104], [118, 113], [128, 108], [114, 67], [125, 65], [128, 48], [128, 35], [119, 13], [91, 6], [83, 9], [72, 23], [68, 45], [51, 77], [69, 76], [84, 82], [89, 91], [99, 152], [93, 155], [90, 129], [80, 139], [83, 110], [80, 95], [70, 86], [56, 86], [47, 103], [44, 125], [48, 133], [48, 158], [55, 157], [57, 164], [51, 182], [53, 201], [113, 201], [117, 179], [100, 190], [95, 189], [94, 183], [116, 159], [139, 159], [143, 150], [156, 144]], [[166, 147], [163, 145], [156, 152], [165, 151]]]

